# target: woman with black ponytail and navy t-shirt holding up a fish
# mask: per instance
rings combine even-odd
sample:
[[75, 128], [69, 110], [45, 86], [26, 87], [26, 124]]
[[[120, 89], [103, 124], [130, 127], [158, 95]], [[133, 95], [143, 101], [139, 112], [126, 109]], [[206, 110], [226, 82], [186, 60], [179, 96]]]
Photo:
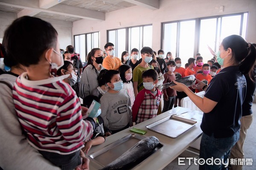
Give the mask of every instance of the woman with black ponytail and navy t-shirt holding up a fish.
[[217, 60], [224, 68], [212, 78], [208, 87], [204, 85], [203, 89], [207, 88], [207, 90], [203, 98], [194, 94], [182, 83], [174, 81], [177, 85], [171, 87], [177, 91], [184, 91], [204, 112], [199, 157], [205, 161], [212, 157], [221, 160], [219, 164], [199, 165], [200, 170], [227, 167], [230, 150], [239, 139], [239, 120], [242, 116], [242, 104], [247, 88], [244, 75], [250, 77], [252, 75], [256, 49], [241, 36], [231, 35], [221, 42]]

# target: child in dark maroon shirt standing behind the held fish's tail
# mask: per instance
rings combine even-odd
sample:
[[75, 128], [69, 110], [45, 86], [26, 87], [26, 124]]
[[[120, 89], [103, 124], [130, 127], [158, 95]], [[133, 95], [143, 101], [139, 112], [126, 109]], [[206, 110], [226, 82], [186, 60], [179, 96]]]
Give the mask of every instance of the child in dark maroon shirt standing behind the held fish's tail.
[[[176, 67], [175, 61], [170, 60], [169, 62], [167, 62], [167, 68], [169, 71], [163, 75], [164, 76], [163, 83], [168, 83], [175, 80], [175, 73], [174, 73], [175, 67]], [[173, 90], [171, 88], [163, 89], [163, 99], [164, 99], [163, 112], [166, 112], [172, 109], [176, 96], [177, 96], [176, 90]]]

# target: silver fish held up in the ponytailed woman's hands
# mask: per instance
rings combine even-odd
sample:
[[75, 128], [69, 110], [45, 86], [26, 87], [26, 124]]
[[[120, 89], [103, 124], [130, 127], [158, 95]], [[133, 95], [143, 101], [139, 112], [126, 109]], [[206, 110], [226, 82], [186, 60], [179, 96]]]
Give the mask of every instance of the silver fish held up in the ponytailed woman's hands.
[[[186, 85], [187, 87], [190, 87], [190, 86], [195, 84], [196, 79], [195, 79], [194, 75], [190, 75], [190, 76], [182, 77], [180, 79], [176, 79], [175, 81], [176, 82], [181, 82], [184, 85]], [[168, 83], [165, 83], [165, 84], [161, 85], [158, 89], [163, 90], [165, 88], [169, 88], [169, 87], [174, 86], [174, 85], [176, 85], [174, 82], [168, 82]]]

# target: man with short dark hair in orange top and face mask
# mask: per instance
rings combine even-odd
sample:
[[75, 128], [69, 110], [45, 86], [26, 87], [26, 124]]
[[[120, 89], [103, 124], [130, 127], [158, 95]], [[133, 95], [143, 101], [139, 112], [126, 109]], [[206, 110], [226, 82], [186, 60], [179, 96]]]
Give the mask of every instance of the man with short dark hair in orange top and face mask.
[[122, 62], [119, 58], [115, 57], [115, 48], [113, 43], [108, 42], [104, 46], [108, 56], [103, 59], [102, 66], [107, 70], [118, 70]]

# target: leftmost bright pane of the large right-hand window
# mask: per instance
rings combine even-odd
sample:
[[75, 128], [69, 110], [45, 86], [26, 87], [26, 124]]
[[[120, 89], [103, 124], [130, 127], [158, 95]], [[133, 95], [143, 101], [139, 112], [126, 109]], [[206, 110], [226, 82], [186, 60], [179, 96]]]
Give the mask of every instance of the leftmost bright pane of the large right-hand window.
[[177, 23], [164, 24], [163, 51], [172, 52], [175, 58], [177, 48]]

